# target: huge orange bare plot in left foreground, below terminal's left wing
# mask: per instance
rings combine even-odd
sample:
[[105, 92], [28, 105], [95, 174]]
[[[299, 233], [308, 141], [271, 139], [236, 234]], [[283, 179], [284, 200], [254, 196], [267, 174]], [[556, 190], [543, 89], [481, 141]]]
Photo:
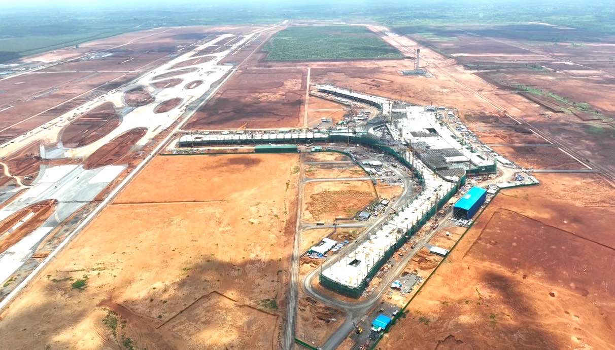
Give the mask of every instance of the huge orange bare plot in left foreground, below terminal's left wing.
[[279, 348], [297, 164], [284, 154], [154, 158], [4, 311], [2, 343]]

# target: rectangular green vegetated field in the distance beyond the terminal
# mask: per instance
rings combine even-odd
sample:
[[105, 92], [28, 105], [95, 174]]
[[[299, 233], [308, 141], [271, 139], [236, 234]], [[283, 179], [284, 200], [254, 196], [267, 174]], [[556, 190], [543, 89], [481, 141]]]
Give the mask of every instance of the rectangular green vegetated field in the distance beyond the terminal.
[[402, 57], [363, 26], [291, 26], [272, 37], [263, 51], [268, 61]]

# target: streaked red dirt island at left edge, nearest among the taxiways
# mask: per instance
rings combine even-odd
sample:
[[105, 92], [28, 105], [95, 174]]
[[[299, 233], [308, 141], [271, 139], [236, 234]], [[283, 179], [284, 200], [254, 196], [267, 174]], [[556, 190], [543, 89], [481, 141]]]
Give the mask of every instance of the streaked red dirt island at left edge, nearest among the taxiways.
[[[7, 217], [0, 223], [0, 253], [9, 249], [28, 235], [35, 228], [39, 227], [54, 212], [57, 200], [44, 200], [34, 203], [15, 214]], [[34, 216], [20, 225], [16, 230], [8, 232], [15, 224], [23, 220], [28, 214], [34, 212]]]

